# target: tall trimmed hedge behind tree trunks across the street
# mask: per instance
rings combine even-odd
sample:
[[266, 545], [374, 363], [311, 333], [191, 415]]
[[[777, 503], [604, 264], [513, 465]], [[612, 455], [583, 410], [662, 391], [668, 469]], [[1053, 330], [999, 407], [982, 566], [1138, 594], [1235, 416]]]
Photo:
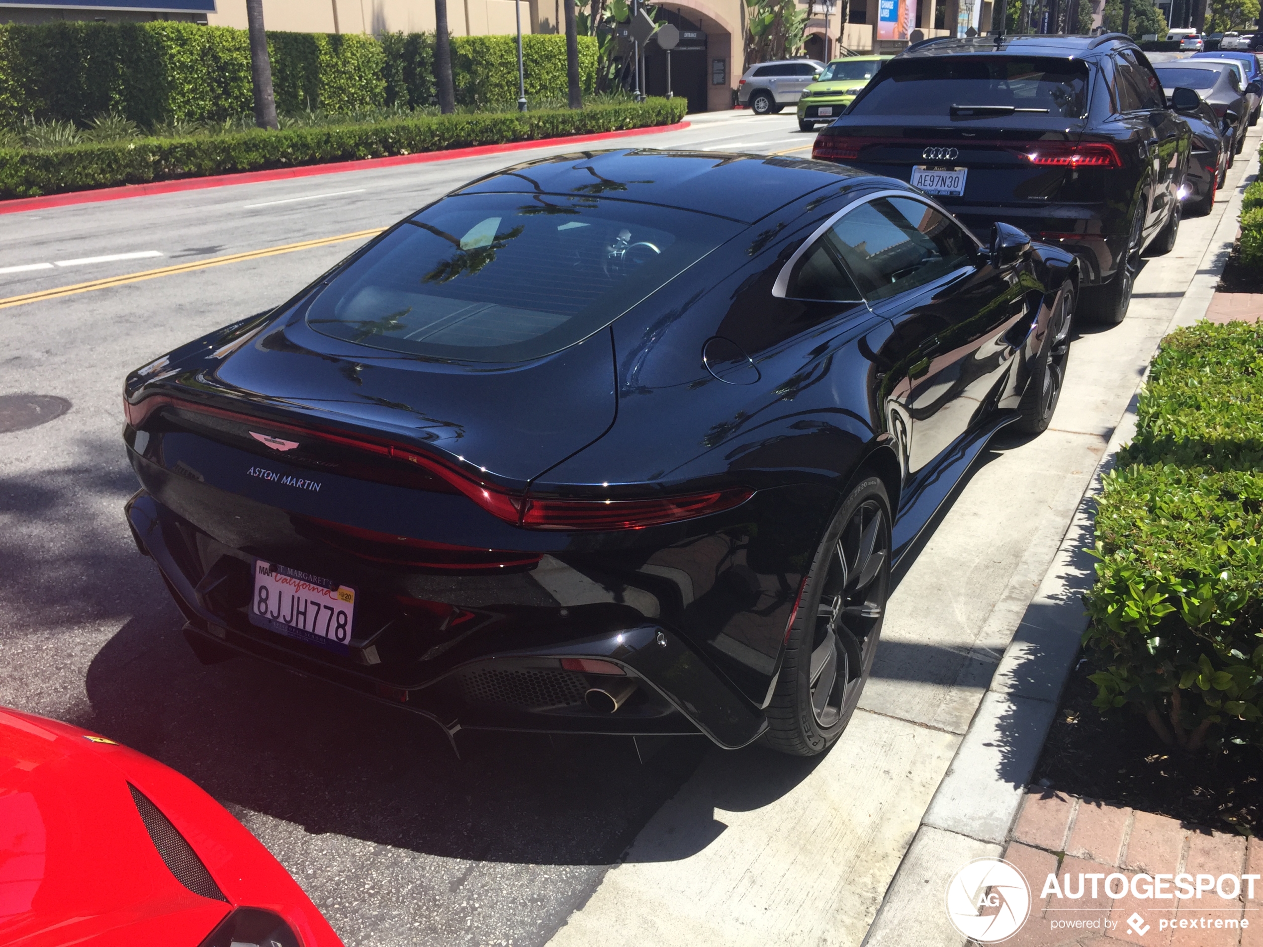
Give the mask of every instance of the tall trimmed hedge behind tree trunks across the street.
[[[381, 105], [434, 105], [433, 34], [268, 33], [277, 109], [345, 115]], [[580, 37], [580, 78], [596, 86], [596, 39]], [[527, 96], [565, 97], [566, 38], [523, 37]], [[518, 97], [513, 37], [453, 37], [457, 104]], [[115, 111], [138, 125], [222, 121], [249, 114], [246, 30], [191, 23], [0, 25], [0, 125], [24, 116], [86, 125]]]

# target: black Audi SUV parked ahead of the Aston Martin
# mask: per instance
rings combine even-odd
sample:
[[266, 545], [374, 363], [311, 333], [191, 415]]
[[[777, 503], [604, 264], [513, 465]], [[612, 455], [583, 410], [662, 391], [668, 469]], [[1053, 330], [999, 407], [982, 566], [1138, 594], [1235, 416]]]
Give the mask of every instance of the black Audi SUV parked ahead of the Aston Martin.
[[813, 157], [909, 181], [1080, 261], [1082, 307], [1127, 314], [1140, 254], [1175, 245], [1192, 134], [1128, 37], [927, 39], [885, 63]]

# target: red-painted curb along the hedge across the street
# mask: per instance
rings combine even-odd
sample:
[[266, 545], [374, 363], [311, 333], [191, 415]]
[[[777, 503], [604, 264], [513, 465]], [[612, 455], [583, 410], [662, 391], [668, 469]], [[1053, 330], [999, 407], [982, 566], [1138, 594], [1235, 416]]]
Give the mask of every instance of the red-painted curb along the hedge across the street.
[[477, 158], [484, 154], [504, 154], [523, 152], [530, 148], [548, 145], [581, 144], [584, 141], [605, 141], [629, 135], [652, 135], [659, 131], [679, 131], [691, 122], [677, 121], [673, 125], [650, 125], [644, 129], [624, 129], [621, 131], [597, 131], [591, 135], [566, 135], [563, 138], [539, 138], [533, 141], [509, 141], [503, 145], [476, 145], [475, 148], [452, 148], [447, 152], [419, 152], [418, 154], [397, 154], [389, 158], [364, 158], [357, 162], [333, 162], [331, 164], [303, 164], [296, 168], [273, 168], [270, 170], [246, 170], [237, 174], [212, 174], [205, 178], [182, 178], [179, 181], [155, 181], [150, 184], [124, 184], [123, 187], [104, 187], [99, 191], [72, 191], [64, 194], [45, 194], [43, 197], [18, 197], [0, 201], [0, 213], [19, 213], [47, 207], [67, 207], [76, 203], [100, 203], [101, 201], [121, 201], [128, 197], [145, 194], [169, 194], [177, 191], [201, 191], [208, 187], [229, 187], [231, 184], [255, 184], [260, 181], [283, 181], [285, 178], [309, 178], [317, 174], [341, 174], [349, 170], [368, 170], [370, 168], [393, 168], [399, 164], [426, 164], [446, 162], [456, 158]]

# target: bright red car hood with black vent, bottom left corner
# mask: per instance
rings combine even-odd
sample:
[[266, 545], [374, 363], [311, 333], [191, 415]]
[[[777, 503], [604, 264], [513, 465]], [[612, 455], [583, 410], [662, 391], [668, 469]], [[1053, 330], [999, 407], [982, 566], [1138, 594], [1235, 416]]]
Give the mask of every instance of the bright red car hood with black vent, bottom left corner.
[[340, 943], [192, 782], [105, 737], [0, 710], [0, 943], [196, 947], [237, 905], [280, 914], [304, 947]]

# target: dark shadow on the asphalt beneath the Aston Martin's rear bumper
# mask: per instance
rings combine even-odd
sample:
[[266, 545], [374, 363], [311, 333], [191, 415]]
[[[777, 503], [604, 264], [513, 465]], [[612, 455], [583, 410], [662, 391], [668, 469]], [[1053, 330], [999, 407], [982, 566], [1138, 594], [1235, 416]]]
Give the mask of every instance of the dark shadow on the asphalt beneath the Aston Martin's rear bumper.
[[165, 590], [144, 596], [87, 672], [97, 730], [221, 801], [451, 859], [609, 865], [710, 744], [677, 737], [642, 764], [629, 737], [438, 727], [251, 658], [203, 667]]

